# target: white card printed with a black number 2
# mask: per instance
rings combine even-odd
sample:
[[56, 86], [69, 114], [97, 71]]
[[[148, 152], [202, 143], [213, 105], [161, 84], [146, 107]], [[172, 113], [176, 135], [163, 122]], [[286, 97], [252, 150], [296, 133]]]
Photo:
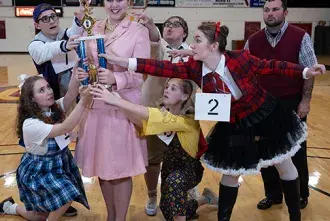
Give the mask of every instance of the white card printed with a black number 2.
[[231, 94], [196, 93], [195, 120], [230, 121]]

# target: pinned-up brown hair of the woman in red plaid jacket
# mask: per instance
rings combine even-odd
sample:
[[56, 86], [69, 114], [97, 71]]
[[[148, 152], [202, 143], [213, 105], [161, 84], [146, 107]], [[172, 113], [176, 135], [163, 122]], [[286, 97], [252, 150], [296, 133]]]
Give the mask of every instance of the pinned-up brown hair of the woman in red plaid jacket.
[[203, 22], [200, 26], [198, 26], [198, 30], [204, 33], [210, 44], [218, 42], [219, 51], [221, 53], [226, 51], [227, 37], [229, 34], [229, 29], [227, 26], [222, 25], [220, 26], [220, 30], [217, 31], [217, 23]]

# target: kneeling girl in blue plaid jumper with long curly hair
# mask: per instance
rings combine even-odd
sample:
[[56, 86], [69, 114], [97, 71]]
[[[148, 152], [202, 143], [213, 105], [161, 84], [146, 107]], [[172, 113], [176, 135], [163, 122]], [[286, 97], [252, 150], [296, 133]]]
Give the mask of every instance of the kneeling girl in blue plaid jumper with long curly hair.
[[[81, 99], [65, 119], [78, 95], [77, 70], [65, 97], [55, 101], [48, 82], [33, 76], [24, 82], [18, 106], [17, 134], [24, 140], [26, 153], [17, 169], [17, 185], [24, 206], [12, 198], [0, 204], [0, 212], [17, 214], [28, 220], [58, 220], [73, 201], [89, 209], [81, 176], [68, 149], [70, 135], [89, 102], [89, 87], [80, 90]], [[75, 75], [72, 75], [75, 76]]]

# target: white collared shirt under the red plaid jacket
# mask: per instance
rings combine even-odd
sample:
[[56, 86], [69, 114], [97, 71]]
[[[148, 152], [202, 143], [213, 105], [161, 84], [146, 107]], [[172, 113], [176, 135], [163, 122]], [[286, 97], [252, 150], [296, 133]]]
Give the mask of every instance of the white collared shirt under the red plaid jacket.
[[[218, 66], [214, 71], [210, 70], [206, 65], [203, 63], [202, 67], [202, 73], [203, 77], [211, 72], [216, 72], [220, 79], [226, 84], [226, 86], [229, 88], [230, 93], [233, 95], [235, 100], [238, 100], [240, 97], [242, 97], [242, 92], [235, 83], [233, 77], [231, 76], [228, 68], [225, 66], [226, 64], [226, 57], [224, 55], [221, 55], [220, 62], [218, 63]], [[203, 84], [201, 84], [203, 85]]]

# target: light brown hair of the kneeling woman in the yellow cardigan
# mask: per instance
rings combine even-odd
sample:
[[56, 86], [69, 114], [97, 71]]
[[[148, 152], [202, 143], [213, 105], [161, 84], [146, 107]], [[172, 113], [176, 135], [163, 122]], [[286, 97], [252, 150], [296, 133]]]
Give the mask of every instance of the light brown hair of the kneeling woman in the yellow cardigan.
[[[169, 78], [167, 79], [165, 85], [167, 84], [167, 82], [169, 82], [171, 79], [173, 78]], [[185, 100], [184, 102], [182, 102], [181, 104], [181, 111], [180, 114], [181, 115], [190, 115], [190, 114], [194, 114], [195, 113], [195, 108], [194, 108], [194, 102], [191, 99], [192, 96], [196, 93], [195, 91], [195, 87], [192, 83], [191, 80], [187, 80], [187, 79], [180, 79], [180, 78], [176, 78], [180, 80], [180, 89], [184, 94], [188, 95], [187, 100]], [[163, 98], [161, 98], [158, 101], [158, 106], [159, 107], [164, 107], [164, 103], [163, 103]]]

